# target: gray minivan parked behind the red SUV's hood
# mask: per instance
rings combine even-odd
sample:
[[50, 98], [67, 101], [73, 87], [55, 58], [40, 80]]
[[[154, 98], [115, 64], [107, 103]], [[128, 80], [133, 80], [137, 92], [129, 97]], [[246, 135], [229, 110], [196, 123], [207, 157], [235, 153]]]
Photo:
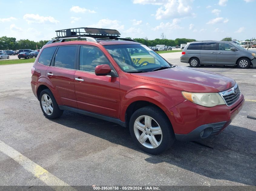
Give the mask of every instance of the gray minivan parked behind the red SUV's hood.
[[200, 65], [237, 65], [256, 67], [256, 53], [228, 41], [194, 41], [182, 51], [181, 62], [191, 67]]

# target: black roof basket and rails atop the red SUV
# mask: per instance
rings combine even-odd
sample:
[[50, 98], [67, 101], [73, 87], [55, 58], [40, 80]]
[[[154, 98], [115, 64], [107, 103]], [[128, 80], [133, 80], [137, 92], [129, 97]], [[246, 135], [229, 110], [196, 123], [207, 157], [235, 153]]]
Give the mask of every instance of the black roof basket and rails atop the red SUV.
[[102, 28], [72, 28], [72, 29], [63, 29], [55, 30], [57, 33], [56, 39], [49, 40], [46, 44], [65, 42], [66, 39], [86, 39], [91, 42], [100, 42], [97, 39], [101, 40], [127, 40], [133, 41], [132, 39], [118, 38], [121, 35], [118, 30], [113, 29], [102, 29]]

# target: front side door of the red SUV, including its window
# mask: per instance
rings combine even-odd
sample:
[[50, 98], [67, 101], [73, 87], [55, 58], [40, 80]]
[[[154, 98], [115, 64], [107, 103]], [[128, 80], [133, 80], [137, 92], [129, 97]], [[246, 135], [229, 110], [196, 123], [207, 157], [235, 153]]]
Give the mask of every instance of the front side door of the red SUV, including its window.
[[95, 67], [108, 64], [104, 53], [94, 46], [80, 46], [79, 70], [75, 72], [75, 94], [78, 108], [119, 118], [119, 78], [96, 76]]

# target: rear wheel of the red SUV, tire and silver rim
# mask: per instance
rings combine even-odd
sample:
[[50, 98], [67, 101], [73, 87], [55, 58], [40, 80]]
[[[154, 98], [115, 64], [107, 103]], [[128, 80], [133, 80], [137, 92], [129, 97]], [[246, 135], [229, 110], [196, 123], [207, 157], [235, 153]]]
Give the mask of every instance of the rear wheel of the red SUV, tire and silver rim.
[[44, 116], [48, 119], [55, 119], [63, 114], [63, 110], [60, 110], [58, 104], [49, 89], [45, 89], [39, 96], [41, 110]]

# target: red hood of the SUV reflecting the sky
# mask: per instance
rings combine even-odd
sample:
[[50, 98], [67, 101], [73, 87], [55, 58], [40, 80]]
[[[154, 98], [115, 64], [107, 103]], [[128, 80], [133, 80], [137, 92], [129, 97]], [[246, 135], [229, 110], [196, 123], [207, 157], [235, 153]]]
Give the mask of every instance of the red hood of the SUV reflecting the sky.
[[183, 66], [176, 66], [155, 72], [131, 73], [131, 75], [137, 78], [176, 86], [188, 92], [220, 92], [230, 89], [235, 85], [233, 79], [223, 75]]

